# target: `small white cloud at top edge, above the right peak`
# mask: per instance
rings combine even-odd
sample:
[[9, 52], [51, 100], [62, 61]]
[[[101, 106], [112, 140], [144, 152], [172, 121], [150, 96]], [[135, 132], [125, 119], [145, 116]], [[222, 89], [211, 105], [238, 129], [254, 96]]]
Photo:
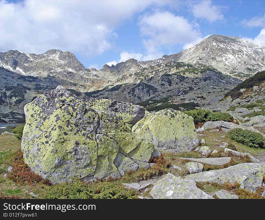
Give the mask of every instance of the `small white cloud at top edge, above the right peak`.
[[220, 7], [212, 5], [210, 0], [204, 0], [192, 5], [191, 11], [194, 17], [207, 19], [211, 23], [216, 20], [222, 20], [224, 17]]

